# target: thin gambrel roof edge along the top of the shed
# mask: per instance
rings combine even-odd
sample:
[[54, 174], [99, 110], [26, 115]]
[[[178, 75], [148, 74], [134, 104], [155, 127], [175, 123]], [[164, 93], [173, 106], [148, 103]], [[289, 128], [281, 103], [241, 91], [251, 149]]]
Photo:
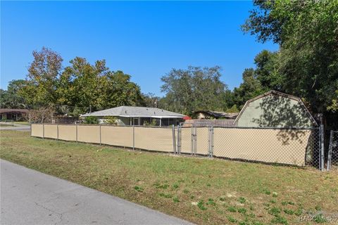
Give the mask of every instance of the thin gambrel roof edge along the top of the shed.
[[241, 115], [243, 114], [244, 110], [246, 109], [246, 107], [249, 105], [249, 103], [253, 102], [253, 101], [256, 101], [257, 99], [259, 98], [263, 98], [265, 96], [268, 96], [268, 95], [278, 95], [278, 96], [282, 96], [282, 97], [285, 97], [285, 98], [291, 98], [295, 101], [298, 101], [299, 104], [301, 105], [301, 107], [303, 108], [303, 110], [305, 111], [306, 115], [308, 115], [308, 117], [310, 118], [311, 122], [313, 122], [313, 124], [315, 124], [316, 126], [318, 126], [318, 123], [315, 121], [315, 118], [313, 118], [313, 116], [311, 115], [310, 111], [308, 110], [308, 108], [306, 107], [306, 105], [304, 105], [303, 101], [301, 101], [301, 98], [299, 97], [296, 97], [296, 96], [293, 96], [291, 94], [285, 94], [285, 93], [282, 93], [280, 91], [274, 91], [274, 90], [271, 90], [271, 91], [268, 91], [268, 92], [265, 92], [264, 94], [261, 94], [259, 96], [256, 96], [255, 98], [251, 98], [249, 99], [248, 101], [246, 101], [244, 107], [242, 108], [242, 110], [239, 112], [239, 114], [237, 115], [236, 117], [236, 120], [234, 120], [234, 124], [239, 120], [239, 118], [241, 117]]

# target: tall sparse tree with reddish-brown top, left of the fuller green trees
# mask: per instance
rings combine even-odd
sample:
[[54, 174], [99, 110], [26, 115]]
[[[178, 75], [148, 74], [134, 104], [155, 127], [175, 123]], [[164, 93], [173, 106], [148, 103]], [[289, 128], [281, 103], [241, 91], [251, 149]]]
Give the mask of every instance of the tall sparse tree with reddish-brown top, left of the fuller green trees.
[[27, 82], [20, 88], [19, 94], [30, 104], [54, 105], [58, 100], [56, 89], [63, 59], [45, 47], [41, 51], [33, 51], [33, 56]]

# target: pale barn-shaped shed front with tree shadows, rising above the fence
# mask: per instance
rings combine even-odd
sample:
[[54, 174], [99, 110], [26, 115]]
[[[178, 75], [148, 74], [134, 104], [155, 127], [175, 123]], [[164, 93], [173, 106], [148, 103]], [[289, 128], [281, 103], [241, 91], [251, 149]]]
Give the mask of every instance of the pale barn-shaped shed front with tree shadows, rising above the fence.
[[301, 98], [268, 91], [246, 101], [234, 120], [237, 127], [311, 128], [317, 122]]

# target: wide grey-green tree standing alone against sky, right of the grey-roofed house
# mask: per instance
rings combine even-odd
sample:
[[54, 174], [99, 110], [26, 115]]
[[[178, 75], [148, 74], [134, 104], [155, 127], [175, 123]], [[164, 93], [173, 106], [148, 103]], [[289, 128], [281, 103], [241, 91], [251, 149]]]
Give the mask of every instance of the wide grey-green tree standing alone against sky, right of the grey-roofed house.
[[165, 97], [160, 105], [168, 110], [191, 115], [194, 110], [223, 110], [227, 86], [220, 81], [220, 67], [171, 70], [161, 78]]

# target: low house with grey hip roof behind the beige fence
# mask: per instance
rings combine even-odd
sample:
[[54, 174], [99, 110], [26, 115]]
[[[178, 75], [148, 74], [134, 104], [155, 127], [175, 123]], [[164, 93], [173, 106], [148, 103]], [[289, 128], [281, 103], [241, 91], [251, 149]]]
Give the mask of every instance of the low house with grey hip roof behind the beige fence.
[[116, 117], [118, 125], [135, 125], [142, 126], [145, 124], [156, 124], [156, 126], [166, 127], [170, 125], [178, 125], [183, 122], [180, 113], [173, 113], [161, 108], [136, 107], [136, 106], [120, 106], [109, 108], [94, 113], [86, 113], [80, 115], [80, 118], [94, 116], [98, 117], [100, 123], [104, 123], [105, 117]]

